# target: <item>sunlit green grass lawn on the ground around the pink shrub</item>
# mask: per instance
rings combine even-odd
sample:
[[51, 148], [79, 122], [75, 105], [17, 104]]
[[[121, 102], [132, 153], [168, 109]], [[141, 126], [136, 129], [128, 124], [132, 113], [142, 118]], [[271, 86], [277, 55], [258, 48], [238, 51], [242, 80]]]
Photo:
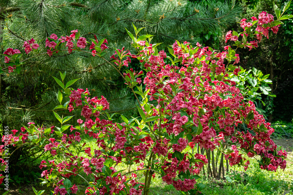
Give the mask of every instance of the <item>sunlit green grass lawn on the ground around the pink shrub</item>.
[[[88, 140], [89, 141], [89, 140]], [[95, 146], [94, 142], [87, 142], [89, 146]], [[287, 168], [285, 171], [280, 169], [277, 172], [270, 172], [261, 170], [258, 166], [258, 163], [254, 158], [245, 158], [250, 160], [251, 165], [248, 170], [244, 172], [242, 167], [230, 167], [229, 168], [229, 177], [226, 177], [225, 180], [215, 180], [212, 178], [206, 178], [206, 176], [201, 175], [202, 178], [197, 180], [197, 182], [204, 183], [206, 187], [202, 190], [202, 194], [219, 194], [219, 195], [266, 195], [266, 194], [287, 194], [293, 195], [293, 156], [292, 156], [292, 146], [293, 139], [278, 139], [275, 140], [278, 145], [278, 149], [286, 149], [288, 151], [287, 156]], [[86, 157], [86, 155], [84, 155]], [[133, 166], [133, 169], [136, 167]], [[116, 170], [126, 169], [126, 166], [119, 165], [115, 167]], [[206, 169], [206, 168], [205, 168]], [[226, 174], [226, 170], [225, 170]], [[86, 174], [81, 174], [87, 180], [91, 180]], [[138, 178], [143, 176], [137, 172]], [[227, 175], [227, 174], [226, 174]], [[82, 180], [79, 176], [69, 178], [72, 183], [76, 183], [78, 185], [86, 185], [84, 180]], [[140, 179], [143, 182], [143, 177]], [[11, 182], [12, 183], [12, 182]], [[37, 190], [45, 189], [46, 192], [44, 194], [50, 194], [50, 190], [52, 188], [46, 188], [45, 186], [38, 186], [35, 184], [34, 186]], [[166, 182], [163, 182], [161, 178], [155, 177], [152, 180], [151, 185], [151, 195], [179, 195], [180, 193], [175, 190], [172, 185], [167, 185]], [[13, 185], [10, 184], [11, 191], [8, 194], [16, 195], [16, 194], [29, 194], [33, 195], [33, 189], [30, 185]], [[2, 189], [0, 193], [3, 193]], [[80, 188], [78, 194], [84, 194], [84, 189]]]

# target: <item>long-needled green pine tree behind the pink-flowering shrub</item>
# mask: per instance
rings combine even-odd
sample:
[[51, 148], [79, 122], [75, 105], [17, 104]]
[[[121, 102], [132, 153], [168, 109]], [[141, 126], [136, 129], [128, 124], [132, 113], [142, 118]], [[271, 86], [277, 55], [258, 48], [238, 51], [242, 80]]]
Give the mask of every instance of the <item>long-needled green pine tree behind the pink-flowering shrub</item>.
[[[54, 33], [58, 36], [79, 29], [81, 37], [107, 38], [109, 48], [130, 45], [125, 30], [132, 31], [132, 23], [145, 27], [142, 34], [155, 35], [154, 42], [163, 42], [162, 49], [174, 40], [197, 42], [201, 32], [227, 27], [235, 22], [240, 7], [235, 1], [208, 6], [186, 0], [2, 0], [1, 7], [1, 53], [9, 48], [22, 48], [23, 42], [42, 40]], [[22, 51], [23, 52], [23, 51]], [[109, 59], [114, 51], [105, 55]], [[4, 56], [1, 67], [4, 67]], [[41, 55], [23, 66], [21, 73], [0, 75], [0, 120], [10, 127], [19, 127], [32, 120], [54, 125], [52, 109], [56, 106], [59, 86], [54, 77], [66, 71], [67, 79], [81, 78], [72, 87], [89, 88], [92, 96], [105, 96], [111, 112], [133, 114], [135, 104], [130, 92], [123, 88], [113, 68], [80, 52], [58, 53], [52, 57]], [[67, 111], [59, 111], [66, 115]], [[76, 119], [73, 119], [76, 121]]]

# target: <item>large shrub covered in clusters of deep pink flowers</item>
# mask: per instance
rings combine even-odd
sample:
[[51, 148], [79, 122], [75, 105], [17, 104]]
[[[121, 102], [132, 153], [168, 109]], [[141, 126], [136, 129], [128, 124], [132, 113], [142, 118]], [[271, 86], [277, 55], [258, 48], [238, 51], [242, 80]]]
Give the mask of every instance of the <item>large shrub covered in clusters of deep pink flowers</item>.
[[[244, 32], [229, 31], [226, 42], [231, 39], [237, 48], [253, 49], [262, 35], [267, 37], [269, 29], [277, 33], [278, 25], [282, 23], [274, 21], [265, 12], [260, 13], [258, 19], [252, 17], [248, 23], [242, 19], [240, 25]], [[119, 73], [123, 66], [128, 67], [131, 58], [137, 58], [144, 66], [146, 73], [132, 68], [120, 73], [134, 92], [140, 117], [127, 119], [121, 115], [123, 122], [114, 122], [115, 114], [110, 116], [107, 113], [109, 103], [103, 96], [91, 98], [87, 89], [71, 89], [76, 80], [64, 84], [65, 74], [60, 73], [61, 80], [54, 79], [63, 92], [58, 92], [60, 105], [54, 109], [67, 108], [70, 112], [81, 109], [82, 117], [77, 120], [79, 125], [64, 125], [72, 116], [63, 118], [54, 112], [61, 123], [59, 127], [37, 126], [30, 122], [21, 128], [21, 132], [13, 130], [13, 134], [2, 138], [2, 141], [8, 139], [7, 144], [13, 146], [31, 144], [50, 151], [52, 160], [43, 160], [40, 164], [42, 184], [54, 186], [54, 194], [76, 194], [78, 187], [68, 178], [71, 175], [82, 177], [80, 173], [84, 172], [93, 178], [89, 182], [82, 177], [88, 183], [85, 194], [147, 195], [152, 177], [161, 177], [183, 194], [197, 194], [204, 185], [196, 180], [208, 160], [205, 155], [190, 152], [195, 144], [210, 151], [217, 149], [231, 166], [243, 166], [244, 170], [250, 163], [239, 153], [240, 150], [250, 158], [259, 156], [261, 169], [276, 171], [277, 168], [286, 168], [287, 152], [276, 151], [277, 146], [270, 139], [274, 129], [256, 111], [252, 101], [243, 100], [243, 94], [231, 80], [231, 74], [237, 77], [240, 70], [236, 49], [228, 45], [224, 51], [217, 52], [199, 43], [192, 46], [188, 42], [176, 41], [168, 48], [170, 57], [163, 50], [158, 51], [159, 44], [151, 43], [151, 35], [138, 36], [141, 29], [134, 27], [135, 37], [127, 31], [136, 54], [123, 47], [115, 49], [111, 57], [115, 65], [107, 61]], [[106, 39], [98, 41], [95, 36], [90, 43], [80, 37], [77, 30], [71, 32], [66, 37], [59, 38], [56, 34], [48, 37], [46, 47], [49, 49], [43, 54], [52, 56], [64, 51], [62, 47], [65, 46], [69, 53], [79, 50], [103, 58], [108, 49]], [[240, 37], [242, 41], [238, 41]], [[249, 38], [252, 41], [248, 42]], [[38, 52], [39, 45], [34, 42], [31, 39], [24, 43], [25, 53]], [[86, 46], [90, 46], [89, 51]], [[19, 50], [7, 49], [5, 62], [10, 65], [9, 73], [14, 69], [20, 73], [20, 65], [25, 61], [20, 61], [21, 55]], [[166, 64], [166, 58], [170, 64]], [[139, 77], [143, 74], [142, 81]], [[64, 105], [63, 97], [69, 99]], [[239, 132], [237, 127], [240, 124], [250, 131]], [[86, 143], [79, 144], [85, 134], [96, 141], [96, 148], [88, 147]], [[4, 145], [0, 151], [2, 158], [9, 156]], [[84, 158], [83, 154], [87, 157]], [[63, 156], [64, 160], [56, 161], [54, 156]], [[4, 170], [2, 158], [1, 170]], [[116, 169], [121, 163], [127, 166], [126, 170]], [[144, 175], [143, 183], [139, 182], [137, 173]]]

